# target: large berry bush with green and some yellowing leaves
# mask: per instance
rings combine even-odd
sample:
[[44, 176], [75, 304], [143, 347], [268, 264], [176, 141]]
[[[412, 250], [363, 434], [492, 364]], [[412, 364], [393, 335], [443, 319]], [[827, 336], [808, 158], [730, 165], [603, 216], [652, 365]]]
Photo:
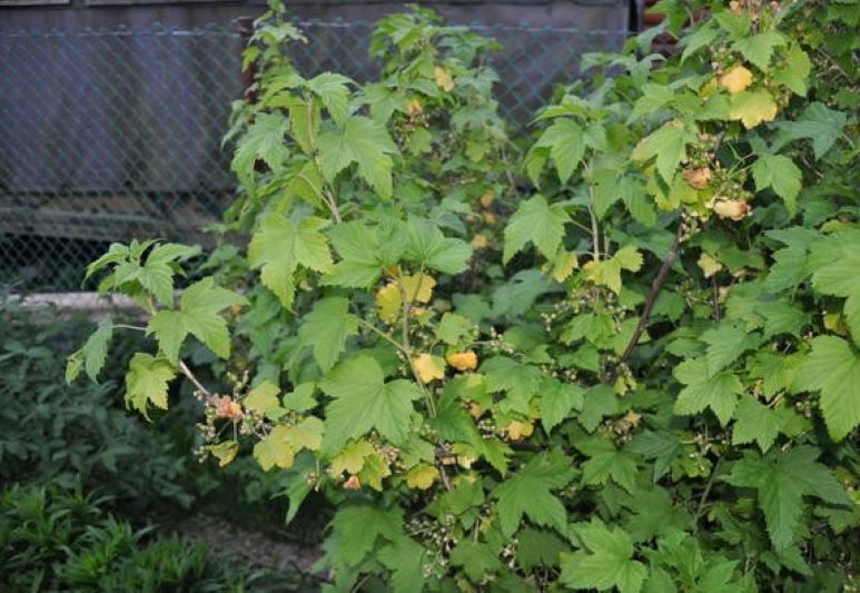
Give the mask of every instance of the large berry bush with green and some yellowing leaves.
[[[230, 134], [220, 230], [247, 245], [178, 302], [194, 248], [88, 268], [149, 315], [131, 407], [185, 376], [204, 454], [289, 476], [288, 520], [312, 491], [336, 505], [333, 589], [854, 586], [860, 11], [659, 10], [525, 144], [490, 40], [414, 10], [378, 23], [377, 81], [306, 78], [274, 4]], [[195, 343], [219, 384], [184, 363]]]

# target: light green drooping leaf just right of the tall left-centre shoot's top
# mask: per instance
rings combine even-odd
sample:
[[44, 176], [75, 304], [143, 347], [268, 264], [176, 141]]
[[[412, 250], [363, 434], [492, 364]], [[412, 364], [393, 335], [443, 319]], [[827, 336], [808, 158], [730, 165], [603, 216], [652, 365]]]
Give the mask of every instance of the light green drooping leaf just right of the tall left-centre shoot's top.
[[353, 162], [358, 174], [383, 198], [392, 196], [392, 157], [398, 152], [385, 127], [372, 119], [353, 116], [340, 132], [324, 132], [317, 140], [323, 176], [333, 182]]

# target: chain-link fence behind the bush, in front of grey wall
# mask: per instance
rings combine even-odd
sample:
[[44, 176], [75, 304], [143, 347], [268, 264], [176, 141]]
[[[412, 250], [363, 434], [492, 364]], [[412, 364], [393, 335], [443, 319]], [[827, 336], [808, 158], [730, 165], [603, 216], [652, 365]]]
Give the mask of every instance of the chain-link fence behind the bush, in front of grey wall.
[[[369, 22], [304, 21], [303, 71], [375, 75]], [[473, 26], [496, 38], [504, 115], [524, 127], [581, 56], [624, 31]], [[110, 241], [204, 241], [235, 182], [220, 148], [243, 92], [236, 23], [0, 33], [0, 285], [76, 290]]]

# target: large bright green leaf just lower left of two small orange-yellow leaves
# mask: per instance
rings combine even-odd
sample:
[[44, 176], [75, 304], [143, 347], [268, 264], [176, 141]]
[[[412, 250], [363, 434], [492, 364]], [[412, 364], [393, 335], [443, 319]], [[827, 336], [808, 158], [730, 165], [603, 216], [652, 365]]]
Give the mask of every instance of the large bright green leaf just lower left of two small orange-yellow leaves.
[[328, 453], [337, 453], [349, 439], [376, 428], [392, 443], [401, 444], [409, 433], [412, 402], [422, 392], [412, 382], [385, 383], [379, 363], [359, 354], [337, 365], [319, 387], [334, 401], [326, 407]]

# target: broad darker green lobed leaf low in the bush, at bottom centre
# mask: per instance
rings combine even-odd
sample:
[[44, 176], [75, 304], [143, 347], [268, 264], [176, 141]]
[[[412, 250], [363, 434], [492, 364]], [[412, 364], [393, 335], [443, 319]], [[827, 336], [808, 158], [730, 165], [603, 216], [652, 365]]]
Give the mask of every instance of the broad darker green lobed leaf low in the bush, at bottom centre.
[[563, 453], [547, 451], [532, 457], [522, 470], [496, 486], [493, 497], [498, 501], [498, 521], [505, 537], [516, 532], [523, 515], [536, 525], [565, 533], [567, 513], [551, 491], [566, 486], [575, 474], [576, 470]]

